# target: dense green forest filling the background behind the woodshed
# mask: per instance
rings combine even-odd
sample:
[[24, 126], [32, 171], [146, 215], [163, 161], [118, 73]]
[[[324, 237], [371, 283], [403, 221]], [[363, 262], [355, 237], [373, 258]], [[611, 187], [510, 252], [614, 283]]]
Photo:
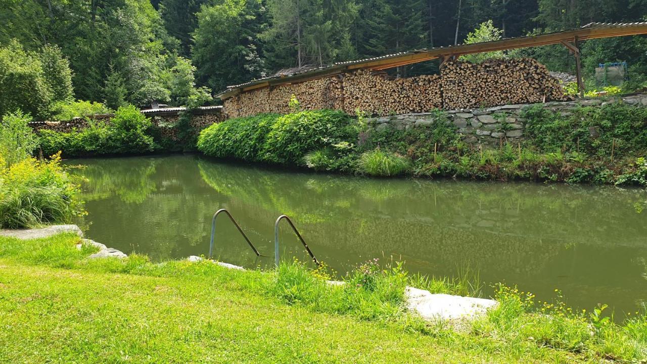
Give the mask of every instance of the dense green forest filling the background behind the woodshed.
[[[0, 0], [0, 115], [46, 119], [70, 100], [215, 103], [227, 85], [292, 69], [646, 15], [647, 0]], [[598, 63], [626, 61], [642, 87], [646, 46], [644, 36], [585, 42], [587, 82]], [[575, 67], [561, 46], [489, 56]], [[393, 72], [431, 74], [437, 63]]]

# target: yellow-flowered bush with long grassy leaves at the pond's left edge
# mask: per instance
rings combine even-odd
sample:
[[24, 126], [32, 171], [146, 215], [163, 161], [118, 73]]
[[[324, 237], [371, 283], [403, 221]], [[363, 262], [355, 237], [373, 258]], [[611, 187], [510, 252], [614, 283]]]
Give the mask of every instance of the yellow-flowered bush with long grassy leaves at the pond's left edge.
[[0, 227], [17, 229], [47, 223], [70, 223], [82, 213], [80, 188], [60, 166], [50, 161], [23, 159], [0, 166]]

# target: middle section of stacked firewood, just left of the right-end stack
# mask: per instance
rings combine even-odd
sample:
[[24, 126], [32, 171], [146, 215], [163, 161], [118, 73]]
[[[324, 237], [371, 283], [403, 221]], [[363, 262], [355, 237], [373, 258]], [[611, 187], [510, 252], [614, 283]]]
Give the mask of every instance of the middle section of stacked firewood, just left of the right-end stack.
[[360, 109], [369, 115], [425, 112], [441, 108], [440, 76], [389, 78], [386, 74], [356, 71], [344, 78], [344, 111]]

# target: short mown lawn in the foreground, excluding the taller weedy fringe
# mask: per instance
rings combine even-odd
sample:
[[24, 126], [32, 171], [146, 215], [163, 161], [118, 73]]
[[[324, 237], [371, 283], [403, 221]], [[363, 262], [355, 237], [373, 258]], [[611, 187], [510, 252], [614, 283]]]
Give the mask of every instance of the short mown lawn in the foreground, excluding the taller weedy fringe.
[[0, 238], [0, 362], [559, 363], [582, 359], [551, 348], [512, 346], [496, 337], [444, 330], [423, 335], [404, 332], [395, 324], [287, 306], [249, 289], [267, 276], [258, 271], [170, 262], [142, 270], [141, 275], [114, 273], [124, 264], [116, 260], [83, 263], [90, 250], [76, 251], [77, 240], [61, 235], [27, 242], [25, 249], [25, 242]]

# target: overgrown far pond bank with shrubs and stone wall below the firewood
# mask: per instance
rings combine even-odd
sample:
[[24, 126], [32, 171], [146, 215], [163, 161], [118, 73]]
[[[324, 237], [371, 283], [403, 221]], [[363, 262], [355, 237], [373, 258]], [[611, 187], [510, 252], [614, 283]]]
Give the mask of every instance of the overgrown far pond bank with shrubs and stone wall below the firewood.
[[[631, 100], [631, 103], [629, 101]], [[203, 130], [205, 155], [367, 176], [647, 186], [647, 97], [353, 119], [298, 111]]]

